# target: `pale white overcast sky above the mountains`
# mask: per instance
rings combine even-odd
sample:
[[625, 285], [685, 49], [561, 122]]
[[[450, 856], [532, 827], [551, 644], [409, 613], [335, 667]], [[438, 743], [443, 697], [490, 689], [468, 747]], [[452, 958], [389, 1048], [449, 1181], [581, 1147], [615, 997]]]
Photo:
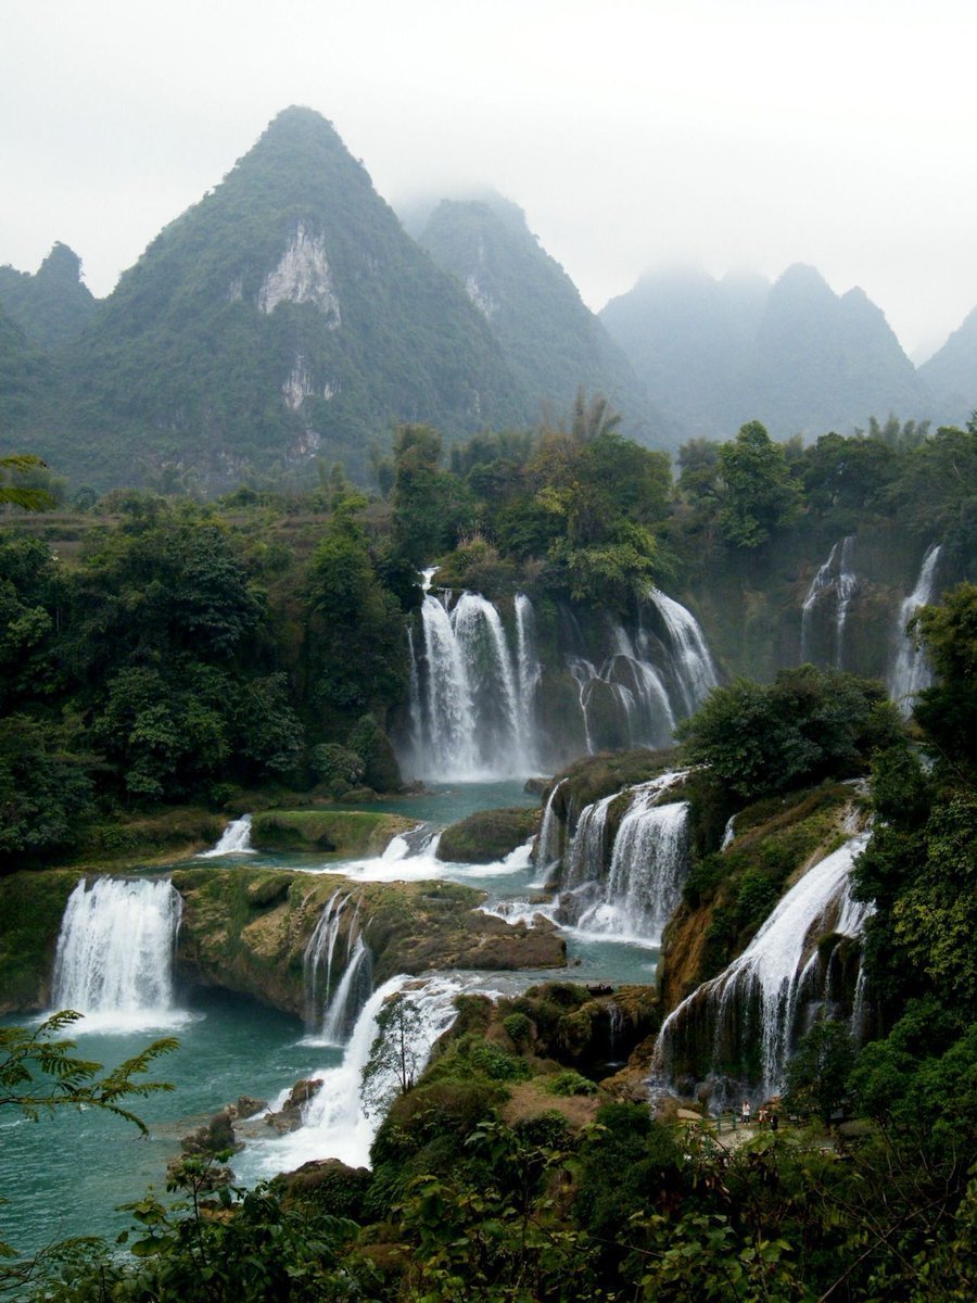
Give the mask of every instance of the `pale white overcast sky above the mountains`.
[[491, 185], [601, 309], [649, 267], [977, 305], [973, 0], [0, 0], [0, 262], [106, 294], [288, 104], [392, 203]]

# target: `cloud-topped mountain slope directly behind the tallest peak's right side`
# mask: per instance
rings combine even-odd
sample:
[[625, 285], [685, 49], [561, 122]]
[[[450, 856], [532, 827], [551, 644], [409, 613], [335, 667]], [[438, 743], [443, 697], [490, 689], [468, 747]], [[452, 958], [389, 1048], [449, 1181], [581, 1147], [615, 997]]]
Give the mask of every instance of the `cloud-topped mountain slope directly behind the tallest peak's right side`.
[[443, 199], [408, 229], [453, 275], [485, 317], [521, 387], [560, 412], [580, 384], [624, 414], [627, 433], [660, 443], [663, 422], [624, 352], [580, 297], [563, 267], [541, 248], [522, 210], [491, 192]]

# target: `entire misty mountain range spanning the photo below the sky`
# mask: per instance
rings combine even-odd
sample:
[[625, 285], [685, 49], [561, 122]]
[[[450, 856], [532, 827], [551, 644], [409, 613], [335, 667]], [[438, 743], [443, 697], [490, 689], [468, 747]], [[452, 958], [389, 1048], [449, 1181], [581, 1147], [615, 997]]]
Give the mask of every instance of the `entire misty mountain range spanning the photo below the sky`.
[[0, 267], [0, 453], [78, 486], [214, 494], [317, 461], [365, 481], [399, 423], [526, 427], [580, 386], [651, 447], [977, 407], [977, 309], [916, 371], [868, 296], [813, 267], [646, 275], [595, 315], [498, 194], [412, 231], [326, 119], [285, 109], [106, 300], [66, 245], [34, 275]]

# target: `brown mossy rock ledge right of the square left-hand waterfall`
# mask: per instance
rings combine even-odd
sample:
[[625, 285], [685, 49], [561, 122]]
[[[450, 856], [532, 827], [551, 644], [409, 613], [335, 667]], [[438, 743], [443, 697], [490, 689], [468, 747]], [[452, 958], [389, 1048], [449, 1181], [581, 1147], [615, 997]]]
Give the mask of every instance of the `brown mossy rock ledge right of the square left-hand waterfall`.
[[[555, 929], [513, 926], [482, 913], [475, 907], [485, 893], [453, 882], [356, 882], [332, 873], [234, 866], [177, 869], [173, 883], [184, 899], [180, 977], [297, 1015], [305, 1012], [306, 946], [336, 893], [349, 898], [337, 952], [345, 954], [347, 929], [357, 920], [375, 984], [395, 973], [560, 968], [567, 962]], [[340, 966], [333, 982], [341, 976]]]

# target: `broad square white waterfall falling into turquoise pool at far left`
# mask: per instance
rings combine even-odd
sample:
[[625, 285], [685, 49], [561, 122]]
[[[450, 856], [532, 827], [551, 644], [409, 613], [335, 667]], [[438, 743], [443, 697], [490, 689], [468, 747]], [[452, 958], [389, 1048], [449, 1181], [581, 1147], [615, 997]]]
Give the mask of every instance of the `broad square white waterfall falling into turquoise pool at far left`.
[[182, 900], [169, 878], [83, 880], [72, 893], [55, 954], [52, 1005], [85, 1014], [85, 1029], [141, 1029], [173, 1010], [173, 946]]

